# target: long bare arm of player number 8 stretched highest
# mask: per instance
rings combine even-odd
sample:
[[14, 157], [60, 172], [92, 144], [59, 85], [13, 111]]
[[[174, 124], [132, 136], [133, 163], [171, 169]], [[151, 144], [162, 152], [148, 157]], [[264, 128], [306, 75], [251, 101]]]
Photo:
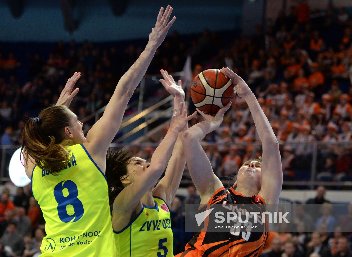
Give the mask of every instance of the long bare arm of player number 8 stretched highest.
[[87, 134], [84, 146], [86, 146], [90, 155], [92, 155], [104, 173], [106, 153], [120, 128], [128, 101], [133, 95], [134, 89], [142, 80], [156, 49], [161, 45], [176, 19], [176, 17], [172, 18], [168, 24], [171, 12], [172, 7], [170, 5], [166, 7], [164, 14], [163, 7], [160, 9], [157, 22], [149, 35], [149, 42], [146, 48], [132, 67], [121, 77], [104, 114]]

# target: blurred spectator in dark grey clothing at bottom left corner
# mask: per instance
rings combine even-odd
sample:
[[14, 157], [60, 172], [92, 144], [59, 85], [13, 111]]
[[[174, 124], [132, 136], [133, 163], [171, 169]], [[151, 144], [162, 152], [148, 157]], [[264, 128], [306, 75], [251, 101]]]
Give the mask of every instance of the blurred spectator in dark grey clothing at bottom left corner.
[[[7, 232], [1, 237], [1, 245], [10, 249], [6, 250], [10, 256], [20, 256], [24, 250], [24, 241], [23, 238], [17, 233], [17, 225], [15, 222], [11, 222], [7, 225]], [[11, 255], [13, 253], [13, 255]]]

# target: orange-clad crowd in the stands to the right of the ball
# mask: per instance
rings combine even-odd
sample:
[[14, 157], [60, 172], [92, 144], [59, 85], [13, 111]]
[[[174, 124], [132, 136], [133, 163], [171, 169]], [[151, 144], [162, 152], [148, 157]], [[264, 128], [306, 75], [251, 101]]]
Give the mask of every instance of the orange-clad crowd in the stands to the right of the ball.
[[[206, 34], [199, 47], [214, 50]], [[329, 4], [326, 11], [314, 11], [302, 1], [290, 13], [281, 12], [265, 30], [257, 26], [254, 37], [235, 39], [202, 60], [193, 77], [227, 66], [256, 94], [279, 142], [291, 143], [281, 148], [285, 181], [310, 178], [314, 142], [325, 143], [317, 146], [316, 180], [351, 181], [352, 19], [344, 8]], [[239, 97], [219, 129], [204, 141], [216, 144], [205, 150], [219, 177], [234, 175], [244, 161], [261, 154], [260, 147], [245, 145], [260, 140], [249, 108]]]

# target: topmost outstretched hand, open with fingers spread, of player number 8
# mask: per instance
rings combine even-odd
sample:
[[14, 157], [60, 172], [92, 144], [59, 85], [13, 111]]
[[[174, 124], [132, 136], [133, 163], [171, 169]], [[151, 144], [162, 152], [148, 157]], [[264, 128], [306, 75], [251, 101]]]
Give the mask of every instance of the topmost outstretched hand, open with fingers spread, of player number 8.
[[155, 43], [156, 47], [159, 47], [161, 43], [163, 43], [166, 34], [168, 33], [174, 21], [176, 20], [176, 17], [174, 16], [168, 23], [170, 15], [172, 13], [172, 7], [170, 5], [166, 7], [164, 14], [163, 10], [164, 8], [161, 7], [158, 14], [158, 18], [156, 20], [156, 24], [152, 29], [152, 33], [150, 33], [149, 35], [149, 41]]

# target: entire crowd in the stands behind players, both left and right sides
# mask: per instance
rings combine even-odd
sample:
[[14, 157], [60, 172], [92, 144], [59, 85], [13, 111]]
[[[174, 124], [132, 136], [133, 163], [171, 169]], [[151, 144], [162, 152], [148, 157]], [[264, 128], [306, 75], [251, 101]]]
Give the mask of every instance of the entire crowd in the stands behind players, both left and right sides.
[[[306, 143], [281, 149], [284, 180], [302, 180], [299, 170], [310, 174], [312, 142], [329, 144], [318, 146], [317, 180], [351, 180], [351, 146], [342, 143], [350, 142], [352, 135], [352, 19], [344, 8], [329, 4], [325, 11], [315, 11], [302, 1], [266, 28], [258, 25], [253, 37], [230, 42], [231, 37], [223, 37], [206, 30], [187, 41], [174, 31], [157, 50], [147, 73], [181, 71], [188, 55], [194, 77], [208, 68], [230, 66], [257, 95], [278, 140]], [[142, 50], [142, 43], [108, 47], [72, 41], [20, 58], [0, 45], [1, 144], [21, 144], [24, 121], [55, 104], [75, 71], [82, 73], [77, 82], [80, 93], [71, 106], [78, 118], [105, 106], [118, 79]], [[239, 97], [222, 126], [205, 141], [225, 144], [206, 149], [219, 177], [233, 175], [243, 161], [261, 151], [235, 146], [259, 141], [247, 104]]]

